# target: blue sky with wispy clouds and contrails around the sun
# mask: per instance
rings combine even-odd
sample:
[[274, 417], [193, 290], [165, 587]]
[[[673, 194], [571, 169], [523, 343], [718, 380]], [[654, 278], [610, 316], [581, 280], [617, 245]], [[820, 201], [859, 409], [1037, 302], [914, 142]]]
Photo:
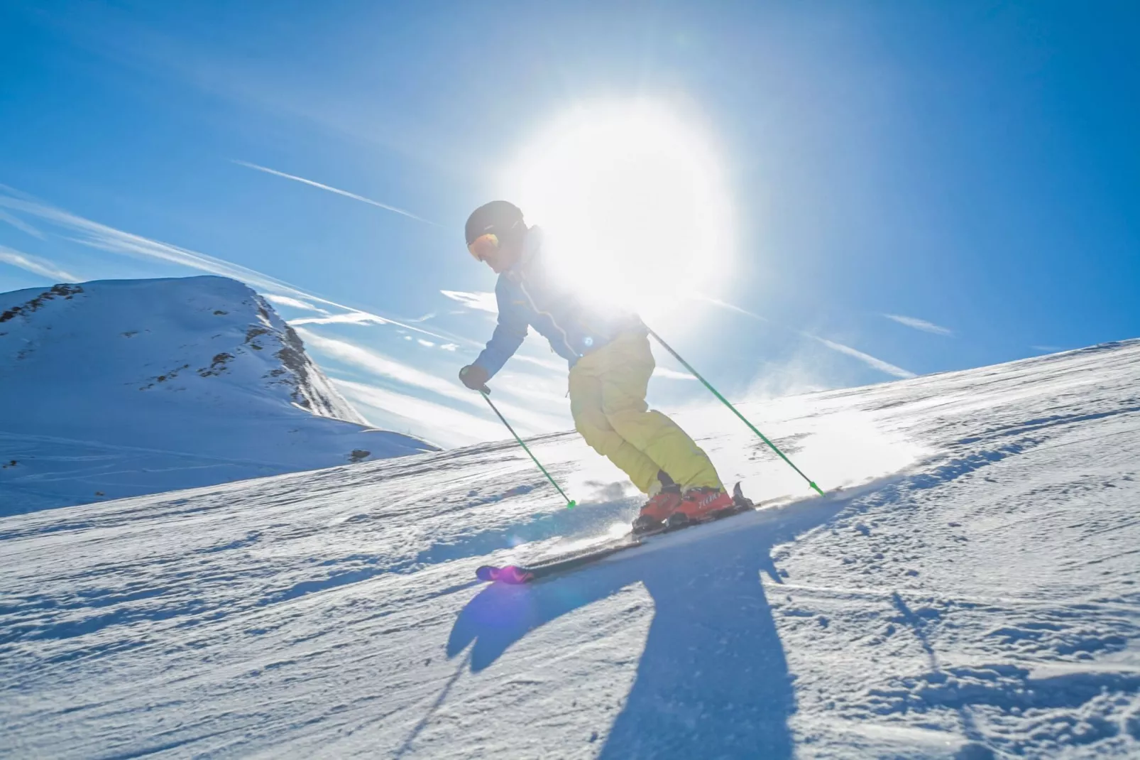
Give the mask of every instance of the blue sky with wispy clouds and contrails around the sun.
[[[654, 326], [730, 397], [1132, 338], [1138, 34], [1129, 2], [6, 2], [0, 290], [237, 276], [374, 423], [500, 438], [455, 380], [494, 325], [466, 215], [563, 114], [650, 103], [732, 209], [726, 276]], [[659, 361], [651, 402], [703, 398]], [[570, 427], [537, 337], [492, 385]]]

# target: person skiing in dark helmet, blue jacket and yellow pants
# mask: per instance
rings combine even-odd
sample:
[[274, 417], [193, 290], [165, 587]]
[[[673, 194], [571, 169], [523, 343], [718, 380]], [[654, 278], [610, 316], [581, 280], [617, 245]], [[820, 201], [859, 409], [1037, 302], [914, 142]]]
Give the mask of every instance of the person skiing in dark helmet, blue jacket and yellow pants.
[[635, 531], [666, 520], [701, 520], [731, 508], [732, 495], [708, 455], [645, 403], [654, 363], [641, 318], [587, 307], [570, 292], [544, 258], [542, 231], [527, 227], [513, 203], [479, 207], [467, 218], [465, 234], [471, 254], [498, 275], [498, 325], [487, 348], [459, 371], [463, 385], [490, 393], [487, 381], [532, 326], [570, 365], [575, 429], [649, 498]]

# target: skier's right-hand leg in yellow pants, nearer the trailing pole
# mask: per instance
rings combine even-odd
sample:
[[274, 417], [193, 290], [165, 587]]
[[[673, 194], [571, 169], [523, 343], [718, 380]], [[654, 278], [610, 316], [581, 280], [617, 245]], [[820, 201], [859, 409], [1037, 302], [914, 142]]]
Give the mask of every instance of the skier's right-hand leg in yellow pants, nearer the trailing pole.
[[[604, 354], [603, 354], [604, 351]], [[682, 488], [723, 488], [716, 468], [700, 446], [676, 422], [645, 403], [653, 353], [643, 333], [627, 333], [603, 354], [602, 412], [618, 435], [653, 460]]]

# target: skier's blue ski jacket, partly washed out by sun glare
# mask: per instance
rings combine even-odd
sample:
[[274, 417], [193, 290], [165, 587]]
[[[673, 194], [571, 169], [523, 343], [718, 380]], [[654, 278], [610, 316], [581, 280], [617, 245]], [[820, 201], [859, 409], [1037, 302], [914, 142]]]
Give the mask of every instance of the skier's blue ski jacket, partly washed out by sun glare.
[[587, 306], [570, 292], [544, 260], [543, 233], [538, 227], [527, 231], [522, 256], [499, 275], [495, 300], [498, 325], [487, 348], [474, 361], [489, 375], [503, 369], [519, 350], [528, 328], [546, 338], [551, 350], [570, 366], [622, 332], [644, 329], [635, 314]]

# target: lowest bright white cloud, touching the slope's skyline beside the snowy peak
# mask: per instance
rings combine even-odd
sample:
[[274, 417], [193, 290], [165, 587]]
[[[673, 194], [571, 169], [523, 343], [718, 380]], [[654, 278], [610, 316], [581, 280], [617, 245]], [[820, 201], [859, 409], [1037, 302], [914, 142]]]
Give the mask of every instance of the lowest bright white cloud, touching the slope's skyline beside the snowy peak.
[[497, 422], [483, 420], [473, 414], [350, 380], [333, 380], [344, 396], [357, 407], [380, 410], [386, 414], [408, 421], [414, 435], [422, 436], [442, 446], [462, 446], [481, 440], [499, 440], [510, 436]]

